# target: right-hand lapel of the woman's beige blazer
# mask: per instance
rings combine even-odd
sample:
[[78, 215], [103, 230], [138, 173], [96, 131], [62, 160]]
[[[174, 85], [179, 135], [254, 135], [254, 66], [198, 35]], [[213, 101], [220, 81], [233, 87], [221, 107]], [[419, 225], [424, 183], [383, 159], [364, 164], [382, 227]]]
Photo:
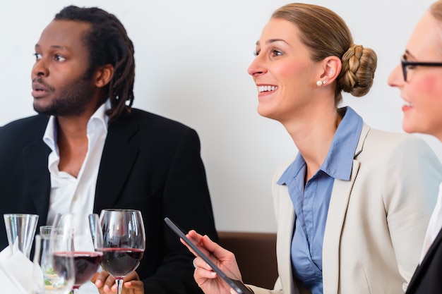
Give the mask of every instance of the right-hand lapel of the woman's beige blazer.
[[[369, 129], [368, 125], [363, 125], [361, 135], [359, 136], [359, 142], [354, 152], [354, 158], [362, 152], [364, 140]], [[335, 179], [335, 183], [333, 184], [323, 240], [323, 284], [327, 285], [327, 288], [324, 288], [325, 294], [338, 293], [340, 236], [342, 234], [342, 228], [344, 227], [345, 214], [347, 213], [350, 194], [358, 171], [359, 161], [354, 159], [350, 180]], [[330, 269], [330, 267], [333, 268]]]

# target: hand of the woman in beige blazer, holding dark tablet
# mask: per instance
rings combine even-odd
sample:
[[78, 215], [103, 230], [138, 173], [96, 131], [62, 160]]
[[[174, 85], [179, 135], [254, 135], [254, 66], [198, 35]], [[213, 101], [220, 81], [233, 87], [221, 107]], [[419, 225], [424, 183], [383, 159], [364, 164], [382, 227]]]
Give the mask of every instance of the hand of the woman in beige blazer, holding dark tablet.
[[[186, 235], [189, 239], [193, 240], [198, 248], [207, 255], [210, 260], [219, 267], [229, 278], [242, 281], [241, 273], [239, 272], [237, 260], [232, 252], [225, 250], [217, 243], [210, 240], [207, 235], [200, 235], [196, 231], [189, 231]], [[181, 243], [186, 245], [184, 240]], [[187, 245], [186, 245], [187, 246]], [[189, 250], [196, 255], [189, 246]], [[196, 257], [193, 260], [193, 266], [196, 267], [193, 278], [195, 278], [198, 286], [204, 291], [205, 294], [229, 294], [236, 293], [234, 290], [222, 280], [215, 271], [201, 258]]]

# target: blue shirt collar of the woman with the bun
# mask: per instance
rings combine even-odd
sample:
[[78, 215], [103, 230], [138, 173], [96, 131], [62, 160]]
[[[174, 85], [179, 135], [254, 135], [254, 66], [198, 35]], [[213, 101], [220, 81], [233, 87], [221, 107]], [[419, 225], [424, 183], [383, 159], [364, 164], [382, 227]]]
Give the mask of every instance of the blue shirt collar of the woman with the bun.
[[[344, 113], [344, 116], [333, 136], [327, 157], [325, 157], [320, 170], [332, 178], [350, 180], [354, 152], [359, 142], [359, 136], [361, 135], [364, 122], [361, 116], [349, 106], [338, 109], [338, 111]], [[297, 174], [304, 169], [304, 166], [304, 158], [298, 153], [296, 159], [294, 159], [293, 163], [282, 173], [277, 183], [280, 185], [288, 183], [290, 179], [297, 176]]]

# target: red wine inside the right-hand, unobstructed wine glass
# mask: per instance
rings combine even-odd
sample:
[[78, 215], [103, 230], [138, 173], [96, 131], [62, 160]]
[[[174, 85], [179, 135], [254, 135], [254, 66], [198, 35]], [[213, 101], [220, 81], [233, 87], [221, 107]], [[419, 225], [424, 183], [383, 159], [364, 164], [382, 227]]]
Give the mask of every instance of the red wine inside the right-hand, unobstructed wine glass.
[[104, 248], [102, 267], [115, 278], [124, 278], [135, 271], [143, 254], [136, 248]]

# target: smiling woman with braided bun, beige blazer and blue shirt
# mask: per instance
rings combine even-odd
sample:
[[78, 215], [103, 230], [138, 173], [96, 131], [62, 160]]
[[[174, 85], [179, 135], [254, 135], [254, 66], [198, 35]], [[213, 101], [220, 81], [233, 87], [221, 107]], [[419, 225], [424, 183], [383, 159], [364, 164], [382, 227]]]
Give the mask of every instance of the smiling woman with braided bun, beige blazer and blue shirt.
[[[375, 68], [374, 51], [327, 8], [287, 4], [263, 28], [249, 66], [258, 113], [282, 123], [299, 153], [273, 178], [279, 278], [273, 290], [249, 286], [255, 294], [404, 293], [442, 166], [421, 139], [374, 130], [338, 107], [342, 91], [369, 92]], [[241, 280], [232, 252], [189, 237]], [[229, 293], [201, 257], [194, 265], [205, 293]]]

